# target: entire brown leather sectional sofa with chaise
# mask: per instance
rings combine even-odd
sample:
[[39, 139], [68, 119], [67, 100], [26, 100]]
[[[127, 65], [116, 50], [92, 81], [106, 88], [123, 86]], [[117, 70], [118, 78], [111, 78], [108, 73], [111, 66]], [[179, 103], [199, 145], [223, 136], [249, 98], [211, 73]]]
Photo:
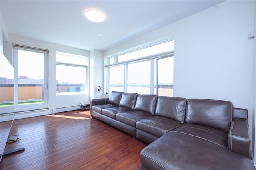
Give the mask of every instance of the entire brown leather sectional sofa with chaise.
[[149, 145], [141, 169], [254, 170], [246, 109], [229, 101], [112, 91], [91, 116]]

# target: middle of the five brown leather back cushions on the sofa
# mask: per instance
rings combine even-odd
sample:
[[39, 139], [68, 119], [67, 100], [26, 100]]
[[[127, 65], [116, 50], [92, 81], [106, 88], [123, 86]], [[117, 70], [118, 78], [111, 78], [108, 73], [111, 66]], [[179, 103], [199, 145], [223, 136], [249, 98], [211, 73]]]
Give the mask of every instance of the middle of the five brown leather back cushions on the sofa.
[[157, 95], [138, 95], [134, 110], [140, 110], [154, 115]]

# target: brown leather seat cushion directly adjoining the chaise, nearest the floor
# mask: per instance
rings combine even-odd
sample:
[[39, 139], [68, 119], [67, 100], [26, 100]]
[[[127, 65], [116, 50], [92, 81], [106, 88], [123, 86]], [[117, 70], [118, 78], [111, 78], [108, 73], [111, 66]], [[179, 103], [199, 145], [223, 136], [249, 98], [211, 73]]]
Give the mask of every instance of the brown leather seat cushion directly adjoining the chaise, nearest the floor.
[[147, 117], [136, 122], [136, 128], [159, 137], [180, 125], [179, 121], [161, 116]]

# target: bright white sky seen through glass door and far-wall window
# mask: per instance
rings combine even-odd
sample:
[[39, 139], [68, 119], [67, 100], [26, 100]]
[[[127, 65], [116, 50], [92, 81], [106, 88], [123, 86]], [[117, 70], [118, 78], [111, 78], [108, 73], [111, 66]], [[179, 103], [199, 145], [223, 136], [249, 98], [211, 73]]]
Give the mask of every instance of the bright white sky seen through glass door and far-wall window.
[[[81, 64], [85, 58], [67, 57], [57, 55], [56, 59], [61, 63]], [[14, 78], [13, 67], [9, 61], [2, 55], [0, 60], [0, 77]], [[18, 50], [18, 77], [27, 76], [29, 79], [44, 79], [44, 53]], [[84, 77], [82, 79], [81, 77]], [[71, 67], [66, 65], [56, 65], [56, 80], [59, 83], [85, 83], [85, 67]]]

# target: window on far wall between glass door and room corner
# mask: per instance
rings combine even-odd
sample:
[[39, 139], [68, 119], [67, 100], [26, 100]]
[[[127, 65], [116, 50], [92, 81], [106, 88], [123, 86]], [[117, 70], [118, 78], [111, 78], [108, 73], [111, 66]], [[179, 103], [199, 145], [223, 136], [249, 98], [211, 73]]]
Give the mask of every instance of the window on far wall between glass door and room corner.
[[56, 52], [56, 95], [87, 92], [88, 57]]

